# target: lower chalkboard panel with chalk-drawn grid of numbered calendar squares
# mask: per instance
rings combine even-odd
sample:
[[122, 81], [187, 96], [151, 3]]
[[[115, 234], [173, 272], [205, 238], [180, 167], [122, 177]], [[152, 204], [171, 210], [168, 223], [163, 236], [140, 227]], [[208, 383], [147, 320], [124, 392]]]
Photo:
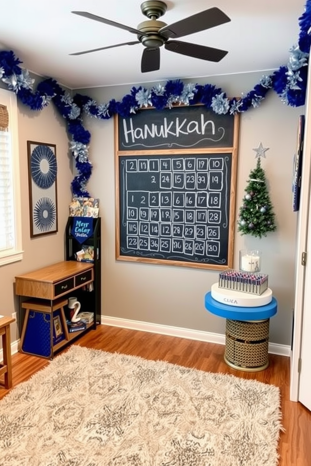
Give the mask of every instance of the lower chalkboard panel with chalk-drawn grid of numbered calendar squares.
[[224, 154], [121, 158], [123, 254], [224, 263], [228, 159]]

